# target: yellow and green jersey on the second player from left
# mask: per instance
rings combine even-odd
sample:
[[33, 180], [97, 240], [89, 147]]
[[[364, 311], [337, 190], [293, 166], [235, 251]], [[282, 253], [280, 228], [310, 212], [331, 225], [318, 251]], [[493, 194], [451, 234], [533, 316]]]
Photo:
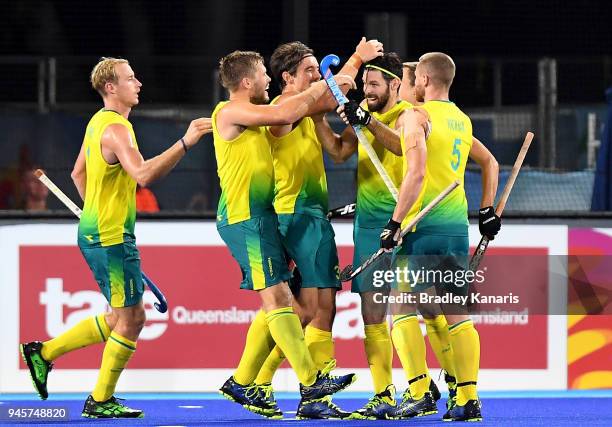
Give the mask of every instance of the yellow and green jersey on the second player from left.
[[217, 113], [226, 103], [217, 104], [212, 114], [217, 174], [221, 184], [218, 227], [274, 212], [274, 166], [266, 129], [251, 126], [231, 141], [223, 139], [217, 129]]

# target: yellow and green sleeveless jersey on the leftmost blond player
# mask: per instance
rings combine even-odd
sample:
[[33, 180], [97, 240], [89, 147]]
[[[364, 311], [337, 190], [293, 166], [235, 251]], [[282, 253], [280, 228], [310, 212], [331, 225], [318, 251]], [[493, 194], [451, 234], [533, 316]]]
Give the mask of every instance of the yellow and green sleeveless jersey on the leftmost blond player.
[[125, 126], [136, 149], [132, 124], [121, 114], [102, 109], [87, 124], [83, 140], [87, 184], [79, 222], [80, 246], [111, 246], [134, 240], [136, 220], [136, 181], [117, 162], [102, 157], [100, 140], [107, 126]]

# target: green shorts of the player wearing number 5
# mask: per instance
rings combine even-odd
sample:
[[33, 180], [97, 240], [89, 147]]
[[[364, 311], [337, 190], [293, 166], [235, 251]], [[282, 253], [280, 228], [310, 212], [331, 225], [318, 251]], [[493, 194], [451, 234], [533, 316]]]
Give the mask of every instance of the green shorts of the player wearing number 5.
[[468, 236], [408, 233], [393, 260], [393, 268], [404, 272], [394, 287], [420, 292], [436, 286], [442, 292], [467, 295], [468, 251]]

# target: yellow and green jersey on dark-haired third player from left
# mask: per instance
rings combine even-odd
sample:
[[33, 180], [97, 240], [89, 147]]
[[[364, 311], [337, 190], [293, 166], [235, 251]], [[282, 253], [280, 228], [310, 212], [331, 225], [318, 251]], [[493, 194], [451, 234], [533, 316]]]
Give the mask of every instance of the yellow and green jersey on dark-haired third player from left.
[[274, 161], [276, 213], [327, 218], [327, 179], [314, 121], [304, 117], [281, 137], [272, 135], [268, 129], [268, 138]]

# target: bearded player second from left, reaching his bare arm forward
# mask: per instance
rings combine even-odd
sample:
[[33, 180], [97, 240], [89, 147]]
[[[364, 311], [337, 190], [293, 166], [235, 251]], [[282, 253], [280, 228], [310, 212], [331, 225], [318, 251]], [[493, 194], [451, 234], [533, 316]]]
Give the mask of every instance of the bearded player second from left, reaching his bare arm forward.
[[[263, 416], [282, 416], [254, 384], [274, 344], [291, 363], [300, 381], [302, 399], [320, 399], [349, 386], [353, 374], [329, 372], [332, 360], [318, 369], [304, 342], [300, 319], [293, 312], [290, 277], [274, 212], [274, 165], [266, 126], [287, 125], [304, 117], [327, 93], [321, 81], [291, 96], [282, 105], [267, 105], [270, 77], [256, 52], [235, 51], [221, 59], [219, 75], [229, 100], [212, 114], [221, 183], [217, 230], [242, 270], [241, 288], [258, 292], [262, 310], [246, 337], [238, 368], [221, 387], [228, 399]], [[352, 78], [338, 76], [354, 86]]]

